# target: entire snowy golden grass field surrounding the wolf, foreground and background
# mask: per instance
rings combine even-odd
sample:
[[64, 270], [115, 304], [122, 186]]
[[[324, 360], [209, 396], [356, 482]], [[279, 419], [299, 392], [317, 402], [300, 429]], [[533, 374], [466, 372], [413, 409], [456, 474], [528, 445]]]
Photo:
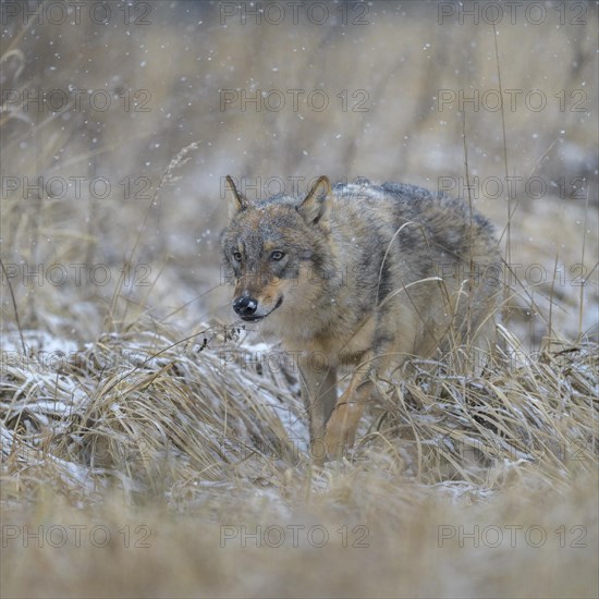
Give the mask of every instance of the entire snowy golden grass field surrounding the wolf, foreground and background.
[[[516, 4], [1, 4], [2, 597], [599, 596], [598, 13]], [[469, 184], [506, 359], [313, 466], [227, 174]]]

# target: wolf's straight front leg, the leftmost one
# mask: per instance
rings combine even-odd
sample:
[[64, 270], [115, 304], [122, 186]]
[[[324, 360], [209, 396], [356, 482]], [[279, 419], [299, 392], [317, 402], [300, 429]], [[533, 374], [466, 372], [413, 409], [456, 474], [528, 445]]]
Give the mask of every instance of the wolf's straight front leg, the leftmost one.
[[309, 418], [310, 453], [321, 465], [327, 456], [325, 430], [337, 404], [337, 371], [328, 364], [317, 364], [313, 357], [300, 358], [300, 379]]

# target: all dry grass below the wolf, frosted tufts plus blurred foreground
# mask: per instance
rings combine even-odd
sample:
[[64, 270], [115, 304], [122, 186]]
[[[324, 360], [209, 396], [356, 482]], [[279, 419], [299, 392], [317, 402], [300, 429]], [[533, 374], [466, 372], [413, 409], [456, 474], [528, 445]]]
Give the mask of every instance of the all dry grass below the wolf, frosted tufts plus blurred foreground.
[[4, 596], [595, 595], [596, 345], [427, 365], [314, 470], [293, 370], [236, 337], [140, 321], [11, 354]]

